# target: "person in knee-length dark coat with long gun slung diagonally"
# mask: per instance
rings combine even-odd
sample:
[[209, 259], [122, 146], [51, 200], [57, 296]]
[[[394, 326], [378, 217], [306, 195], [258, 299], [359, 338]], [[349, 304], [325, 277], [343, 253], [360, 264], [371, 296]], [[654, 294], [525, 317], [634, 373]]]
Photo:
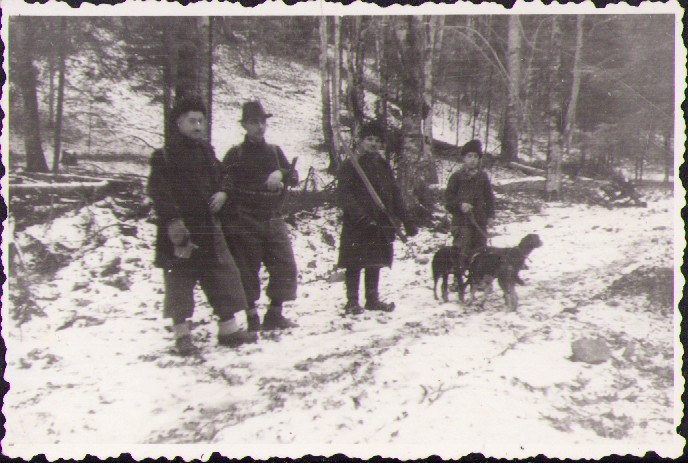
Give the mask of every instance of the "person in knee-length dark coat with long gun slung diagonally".
[[[401, 192], [389, 163], [380, 155], [384, 135], [377, 123], [366, 124], [361, 130], [361, 151], [358, 163], [370, 180], [386, 209], [399, 218], [409, 236], [418, 233], [407, 219]], [[342, 164], [338, 175], [337, 196], [343, 211], [342, 235], [339, 244], [338, 266], [346, 269], [345, 284], [347, 314], [363, 311], [358, 302], [361, 270], [365, 269], [365, 308], [391, 312], [393, 302], [379, 299], [380, 268], [390, 267], [394, 253], [394, 228], [375, 205], [350, 159]]]

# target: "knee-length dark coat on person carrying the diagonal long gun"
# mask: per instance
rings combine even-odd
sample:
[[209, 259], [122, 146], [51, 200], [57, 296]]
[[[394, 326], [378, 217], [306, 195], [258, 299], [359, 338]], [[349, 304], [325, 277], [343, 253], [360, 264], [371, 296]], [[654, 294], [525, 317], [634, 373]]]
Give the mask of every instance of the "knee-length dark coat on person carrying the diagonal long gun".
[[[376, 153], [365, 153], [358, 162], [387, 210], [405, 222], [406, 210], [389, 163]], [[337, 198], [343, 212], [338, 266], [391, 266], [394, 229], [373, 202], [349, 159], [339, 171]]]

